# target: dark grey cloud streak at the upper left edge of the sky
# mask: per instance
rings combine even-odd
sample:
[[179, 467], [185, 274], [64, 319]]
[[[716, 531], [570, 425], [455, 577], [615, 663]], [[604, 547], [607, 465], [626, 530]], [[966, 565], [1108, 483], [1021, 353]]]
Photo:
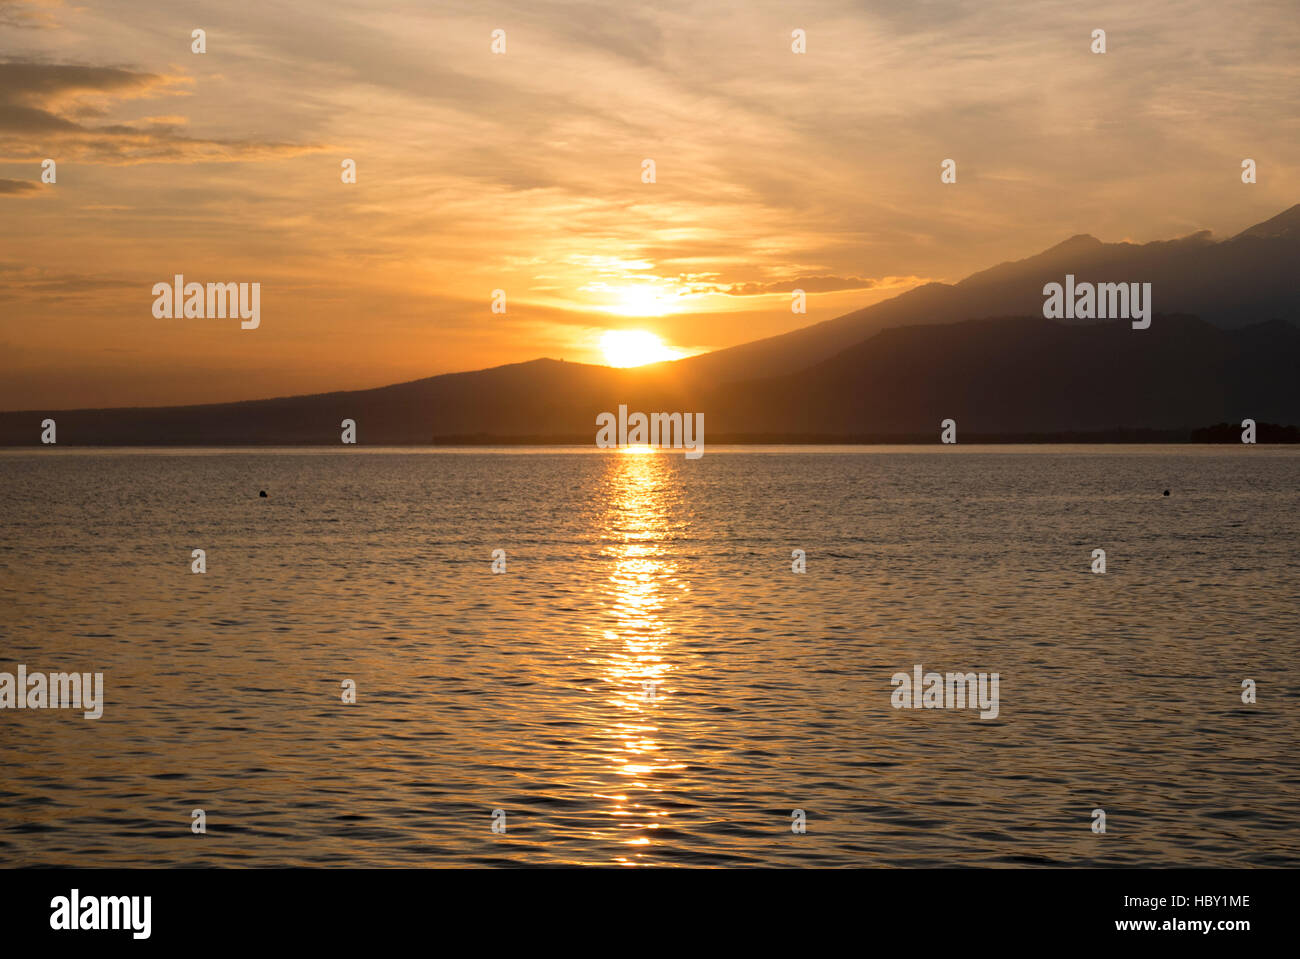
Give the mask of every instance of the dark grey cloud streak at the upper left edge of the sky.
[[[124, 100], [188, 92], [190, 78], [117, 66], [0, 62], [0, 160], [61, 160], [98, 164], [231, 162], [298, 156], [318, 146], [256, 138], [204, 139], [182, 131], [183, 116], [91, 126]], [[39, 149], [38, 142], [39, 140]]]

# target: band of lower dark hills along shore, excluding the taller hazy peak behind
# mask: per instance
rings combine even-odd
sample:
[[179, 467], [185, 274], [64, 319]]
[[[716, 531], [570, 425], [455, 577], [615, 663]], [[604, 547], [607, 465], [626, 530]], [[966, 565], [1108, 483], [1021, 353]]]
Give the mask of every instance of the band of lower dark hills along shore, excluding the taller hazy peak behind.
[[[1169, 430], [1221, 421], [1300, 422], [1300, 327], [1222, 330], [1157, 313], [1071, 326], [1002, 317], [892, 327], [798, 373], [684, 387], [654, 370], [534, 360], [378, 390], [202, 407], [48, 413], [64, 444], [244, 446], [339, 442], [352, 418], [369, 446], [594, 442], [595, 417], [703, 412], [706, 441], [936, 438]], [[0, 444], [39, 442], [46, 413], [0, 413]], [[1261, 434], [1262, 441], [1268, 441]]]

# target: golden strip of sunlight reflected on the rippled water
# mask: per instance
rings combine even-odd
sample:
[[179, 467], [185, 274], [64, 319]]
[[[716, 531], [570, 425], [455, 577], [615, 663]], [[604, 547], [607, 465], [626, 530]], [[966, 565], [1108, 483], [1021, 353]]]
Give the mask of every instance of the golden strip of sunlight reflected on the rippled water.
[[[650, 455], [638, 455], [638, 454]], [[681, 589], [677, 567], [664, 547], [673, 525], [672, 476], [668, 455], [628, 447], [610, 456], [607, 535], [614, 552], [608, 576], [610, 622], [604, 630], [607, 659], [603, 681], [608, 686], [611, 725], [607, 738], [621, 743], [611, 754], [616, 790], [597, 794], [619, 821], [618, 842], [654, 845], [653, 833], [667, 815], [653, 798], [664, 785], [655, 777], [681, 764], [659, 756], [655, 715], [667, 695], [675, 669], [672, 628], [664, 615], [664, 590]], [[615, 862], [636, 864], [634, 854]]]

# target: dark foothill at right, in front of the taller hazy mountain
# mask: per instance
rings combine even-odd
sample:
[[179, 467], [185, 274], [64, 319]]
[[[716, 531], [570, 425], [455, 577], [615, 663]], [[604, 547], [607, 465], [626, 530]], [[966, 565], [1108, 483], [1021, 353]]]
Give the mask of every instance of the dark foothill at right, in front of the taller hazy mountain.
[[1190, 430], [1300, 422], [1300, 327], [1221, 330], [1157, 314], [1093, 326], [1041, 317], [900, 326], [798, 373], [715, 391], [719, 433], [959, 435]]

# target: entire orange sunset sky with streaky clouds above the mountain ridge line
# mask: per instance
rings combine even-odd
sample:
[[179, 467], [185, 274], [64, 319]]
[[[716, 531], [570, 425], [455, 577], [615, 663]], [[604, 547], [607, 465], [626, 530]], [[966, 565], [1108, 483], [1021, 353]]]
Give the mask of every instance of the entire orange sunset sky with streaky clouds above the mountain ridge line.
[[[693, 353], [1297, 199], [1294, 0], [649, 6], [0, 0], [0, 408]], [[260, 329], [156, 320], [177, 273]]]

